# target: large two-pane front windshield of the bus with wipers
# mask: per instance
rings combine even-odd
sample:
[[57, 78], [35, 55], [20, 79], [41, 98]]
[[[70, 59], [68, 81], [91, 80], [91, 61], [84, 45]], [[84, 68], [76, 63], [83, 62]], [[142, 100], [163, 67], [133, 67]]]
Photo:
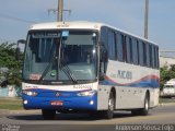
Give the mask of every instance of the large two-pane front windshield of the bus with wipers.
[[96, 35], [90, 31], [31, 31], [23, 80], [94, 81], [97, 75]]

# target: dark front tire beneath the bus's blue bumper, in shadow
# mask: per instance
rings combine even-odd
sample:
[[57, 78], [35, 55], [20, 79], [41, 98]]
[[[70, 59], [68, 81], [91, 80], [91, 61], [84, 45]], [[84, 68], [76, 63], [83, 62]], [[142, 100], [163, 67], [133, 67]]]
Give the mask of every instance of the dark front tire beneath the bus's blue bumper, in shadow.
[[55, 109], [42, 109], [44, 120], [54, 120], [56, 118]]

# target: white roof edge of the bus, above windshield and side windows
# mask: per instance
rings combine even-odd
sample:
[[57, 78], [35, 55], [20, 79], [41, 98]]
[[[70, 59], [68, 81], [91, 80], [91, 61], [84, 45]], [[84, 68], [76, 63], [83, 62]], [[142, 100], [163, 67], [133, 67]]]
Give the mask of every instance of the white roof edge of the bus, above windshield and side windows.
[[34, 24], [31, 26], [30, 29], [65, 29], [65, 28], [79, 28], [79, 29], [96, 29], [96, 31], [100, 31], [102, 26], [106, 26], [106, 27], [109, 27], [109, 28], [114, 28], [118, 32], [121, 32], [124, 34], [127, 34], [129, 36], [132, 36], [132, 37], [137, 37], [139, 39], [142, 39], [147, 43], [151, 43], [151, 44], [154, 44], [156, 45], [155, 43], [151, 41], [151, 40], [148, 40], [145, 38], [142, 38], [140, 36], [137, 36], [137, 35], [133, 35], [131, 33], [128, 33], [126, 31], [122, 31], [122, 29], [119, 29], [119, 28], [116, 28], [114, 26], [110, 26], [110, 25], [107, 25], [105, 23], [97, 23], [97, 22], [88, 22], [88, 21], [74, 21], [74, 22], [50, 22], [50, 23], [39, 23], [39, 24]]

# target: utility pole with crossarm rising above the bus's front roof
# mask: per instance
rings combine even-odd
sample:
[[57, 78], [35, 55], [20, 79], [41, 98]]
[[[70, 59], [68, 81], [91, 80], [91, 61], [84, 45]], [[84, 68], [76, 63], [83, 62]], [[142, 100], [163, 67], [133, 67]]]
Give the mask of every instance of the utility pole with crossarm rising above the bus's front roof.
[[63, 11], [68, 11], [69, 15], [71, 13], [71, 10], [63, 9], [63, 0], [58, 0], [58, 8], [57, 9], [48, 9], [48, 14], [50, 12], [54, 12], [54, 13], [57, 12], [57, 22], [61, 22], [61, 21], [63, 21]]

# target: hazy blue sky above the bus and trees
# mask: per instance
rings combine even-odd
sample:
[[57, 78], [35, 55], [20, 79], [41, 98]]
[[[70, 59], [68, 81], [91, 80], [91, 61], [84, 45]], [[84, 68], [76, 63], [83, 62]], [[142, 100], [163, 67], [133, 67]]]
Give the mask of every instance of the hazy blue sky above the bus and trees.
[[[144, 0], [63, 0], [65, 21], [103, 22], [144, 35]], [[58, 0], [0, 0], [0, 43], [24, 39], [34, 23], [52, 22]], [[175, 50], [175, 0], [149, 0], [149, 39], [161, 50]]]

